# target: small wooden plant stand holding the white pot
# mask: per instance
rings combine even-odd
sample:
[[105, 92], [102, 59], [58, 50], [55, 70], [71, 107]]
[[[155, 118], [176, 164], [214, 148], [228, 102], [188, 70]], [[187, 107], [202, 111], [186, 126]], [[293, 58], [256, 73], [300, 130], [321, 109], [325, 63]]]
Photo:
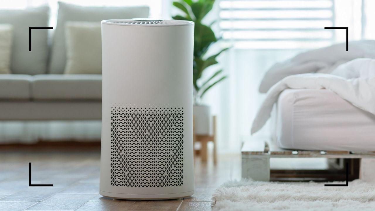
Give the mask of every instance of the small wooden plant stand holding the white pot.
[[[195, 146], [195, 142], [201, 143], [201, 149], [199, 150], [199, 155], [201, 156], [201, 161], [207, 162], [207, 155], [208, 155], [208, 148], [207, 143], [213, 142], [213, 163], [216, 164], [217, 155], [216, 155], [216, 116], [212, 118], [212, 127], [213, 127], [213, 135], [196, 135], [195, 134], [195, 118], [193, 118], [193, 146]], [[197, 155], [197, 151], [194, 149], [194, 156]]]

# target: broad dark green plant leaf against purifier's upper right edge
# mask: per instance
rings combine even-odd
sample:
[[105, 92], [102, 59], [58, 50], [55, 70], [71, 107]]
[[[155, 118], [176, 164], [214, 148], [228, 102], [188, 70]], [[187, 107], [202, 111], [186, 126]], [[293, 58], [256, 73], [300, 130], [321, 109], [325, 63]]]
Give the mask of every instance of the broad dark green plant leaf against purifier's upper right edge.
[[216, 42], [212, 29], [200, 23], [194, 26], [194, 56], [200, 57], [211, 43]]

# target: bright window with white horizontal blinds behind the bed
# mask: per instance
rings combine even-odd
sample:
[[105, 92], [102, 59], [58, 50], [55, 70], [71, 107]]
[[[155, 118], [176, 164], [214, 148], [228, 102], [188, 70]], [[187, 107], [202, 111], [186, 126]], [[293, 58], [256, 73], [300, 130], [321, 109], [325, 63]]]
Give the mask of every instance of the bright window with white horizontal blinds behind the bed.
[[222, 0], [220, 30], [236, 48], [294, 49], [332, 44], [334, 0]]

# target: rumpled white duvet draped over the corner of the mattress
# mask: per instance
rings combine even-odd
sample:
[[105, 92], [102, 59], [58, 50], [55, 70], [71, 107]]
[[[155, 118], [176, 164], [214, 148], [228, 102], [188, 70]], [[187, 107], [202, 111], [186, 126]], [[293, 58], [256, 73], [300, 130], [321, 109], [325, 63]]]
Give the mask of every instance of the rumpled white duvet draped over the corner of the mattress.
[[297, 74], [285, 77], [267, 92], [254, 119], [252, 134], [260, 130], [269, 119], [273, 104], [285, 89], [331, 90], [359, 109], [375, 115], [375, 59], [352, 60], [338, 66], [331, 74]]

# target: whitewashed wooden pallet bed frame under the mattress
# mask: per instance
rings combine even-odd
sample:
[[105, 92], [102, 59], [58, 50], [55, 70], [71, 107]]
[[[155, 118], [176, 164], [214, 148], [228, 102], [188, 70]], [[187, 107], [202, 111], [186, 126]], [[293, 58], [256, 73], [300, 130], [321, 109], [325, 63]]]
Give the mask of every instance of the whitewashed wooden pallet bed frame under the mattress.
[[[252, 140], [242, 147], [242, 178], [255, 181], [375, 181], [375, 152], [305, 151], [281, 149], [272, 142]], [[270, 158], [330, 158], [326, 170], [273, 170]], [[369, 169], [366, 169], [369, 168]]]

